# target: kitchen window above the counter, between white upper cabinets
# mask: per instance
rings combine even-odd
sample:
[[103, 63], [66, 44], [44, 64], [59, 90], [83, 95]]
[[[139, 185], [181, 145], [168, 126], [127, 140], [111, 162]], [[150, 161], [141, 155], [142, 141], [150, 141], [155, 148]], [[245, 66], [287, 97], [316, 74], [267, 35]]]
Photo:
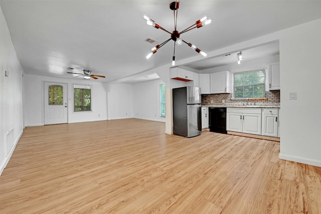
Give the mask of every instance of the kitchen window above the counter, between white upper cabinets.
[[234, 73], [234, 98], [265, 97], [265, 70]]

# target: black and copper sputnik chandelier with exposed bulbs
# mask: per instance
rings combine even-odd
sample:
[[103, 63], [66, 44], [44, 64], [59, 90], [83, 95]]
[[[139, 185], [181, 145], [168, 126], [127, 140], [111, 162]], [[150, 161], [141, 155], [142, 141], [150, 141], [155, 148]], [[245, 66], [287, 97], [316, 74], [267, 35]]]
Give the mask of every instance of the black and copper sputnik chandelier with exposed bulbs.
[[149, 59], [153, 54], [156, 53], [156, 51], [161, 48], [162, 46], [164, 46], [166, 43], [168, 43], [169, 41], [173, 40], [174, 41], [174, 54], [173, 54], [173, 62], [172, 62], [172, 66], [175, 66], [175, 47], [176, 45], [178, 46], [181, 46], [183, 43], [187, 44], [188, 46], [190, 46], [192, 49], [194, 49], [197, 53], [201, 54], [202, 56], [206, 57], [207, 54], [203, 51], [201, 51], [200, 49], [196, 48], [195, 45], [191, 44], [191, 43], [188, 43], [184, 40], [182, 40], [180, 38], [181, 34], [184, 34], [192, 29], [195, 29], [195, 28], [201, 28], [205, 25], [208, 25], [212, 22], [211, 19], [208, 19], [206, 16], [204, 16], [202, 19], [196, 21], [196, 23], [190, 27], [188, 27], [187, 29], [181, 31], [181, 32], [178, 32], [177, 31], [177, 15], [178, 15], [178, 9], [179, 9], [179, 6], [180, 6], [180, 1], [177, 0], [176, 2], [172, 2], [170, 4], [170, 9], [172, 11], [174, 11], [174, 31], [169, 32], [168, 30], [164, 29], [163, 27], [159, 26], [158, 24], [156, 24], [152, 19], [150, 19], [148, 16], [144, 15], [143, 18], [146, 20], [146, 24], [148, 26], [152, 26], [156, 29], [161, 29], [167, 33], [169, 33], [171, 35], [171, 38], [166, 40], [165, 42], [161, 43], [161, 44], [158, 44], [156, 45], [155, 47], [153, 47], [151, 49], [151, 52], [146, 56], [146, 59]]

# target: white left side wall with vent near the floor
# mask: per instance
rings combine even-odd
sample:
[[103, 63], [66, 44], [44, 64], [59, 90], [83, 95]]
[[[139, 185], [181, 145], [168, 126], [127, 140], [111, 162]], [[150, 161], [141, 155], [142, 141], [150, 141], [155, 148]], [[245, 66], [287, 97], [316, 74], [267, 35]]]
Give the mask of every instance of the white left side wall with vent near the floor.
[[[23, 69], [12, 44], [9, 29], [0, 7], [0, 174], [6, 167], [23, 133]], [[5, 76], [9, 71], [9, 76]], [[7, 156], [5, 135], [13, 128], [13, 143]]]

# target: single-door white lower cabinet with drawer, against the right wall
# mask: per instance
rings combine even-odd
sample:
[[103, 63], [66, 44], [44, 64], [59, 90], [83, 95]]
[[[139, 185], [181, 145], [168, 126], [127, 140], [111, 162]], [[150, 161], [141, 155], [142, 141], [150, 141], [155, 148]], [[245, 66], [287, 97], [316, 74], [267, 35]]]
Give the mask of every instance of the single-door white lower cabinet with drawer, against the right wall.
[[262, 135], [278, 137], [277, 108], [262, 108]]

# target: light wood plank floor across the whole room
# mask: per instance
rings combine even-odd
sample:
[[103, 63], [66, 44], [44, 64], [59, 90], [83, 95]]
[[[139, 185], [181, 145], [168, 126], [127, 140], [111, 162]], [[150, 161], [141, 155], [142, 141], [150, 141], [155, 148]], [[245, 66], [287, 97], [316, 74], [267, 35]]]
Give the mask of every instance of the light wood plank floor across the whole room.
[[0, 213], [321, 213], [321, 168], [278, 154], [279, 142], [138, 119], [28, 127]]

